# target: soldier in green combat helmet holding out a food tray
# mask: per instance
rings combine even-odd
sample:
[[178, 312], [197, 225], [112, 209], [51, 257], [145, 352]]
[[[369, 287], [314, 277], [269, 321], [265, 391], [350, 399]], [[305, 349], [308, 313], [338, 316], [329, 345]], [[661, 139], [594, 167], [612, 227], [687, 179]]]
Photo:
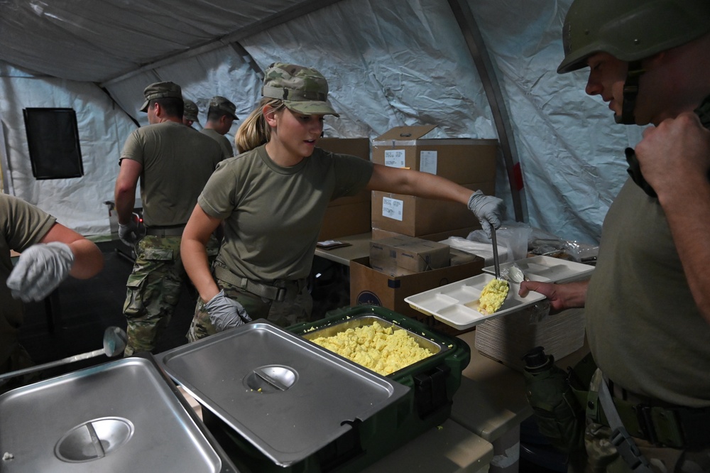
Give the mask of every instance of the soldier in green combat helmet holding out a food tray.
[[575, 0], [562, 40], [558, 72], [589, 67], [616, 121], [652, 125], [626, 149], [591, 281], [521, 284], [585, 308], [590, 395], [606, 385], [621, 419], [589, 404], [572, 471], [710, 471], [710, 1]]

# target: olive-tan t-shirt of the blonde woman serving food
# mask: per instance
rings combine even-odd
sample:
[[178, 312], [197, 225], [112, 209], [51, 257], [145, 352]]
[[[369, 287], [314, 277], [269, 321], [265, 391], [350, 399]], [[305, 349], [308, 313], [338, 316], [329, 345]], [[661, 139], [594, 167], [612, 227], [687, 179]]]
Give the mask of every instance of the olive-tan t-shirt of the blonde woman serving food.
[[290, 167], [271, 161], [264, 145], [222, 161], [197, 201], [224, 220], [217, 261], [265, 283], [305, 278], [328, 203], [364, 189], [372, 170], [369, 161], [321, 148]]

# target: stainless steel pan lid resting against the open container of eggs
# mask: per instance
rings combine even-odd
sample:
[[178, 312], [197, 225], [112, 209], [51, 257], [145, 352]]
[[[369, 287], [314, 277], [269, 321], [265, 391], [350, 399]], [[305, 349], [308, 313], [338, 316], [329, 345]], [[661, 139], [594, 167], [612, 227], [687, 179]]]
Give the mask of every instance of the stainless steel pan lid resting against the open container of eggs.
[[320, 450], [408, 393], [266, 320], [156, 357], [202, 405], [281, 466]]

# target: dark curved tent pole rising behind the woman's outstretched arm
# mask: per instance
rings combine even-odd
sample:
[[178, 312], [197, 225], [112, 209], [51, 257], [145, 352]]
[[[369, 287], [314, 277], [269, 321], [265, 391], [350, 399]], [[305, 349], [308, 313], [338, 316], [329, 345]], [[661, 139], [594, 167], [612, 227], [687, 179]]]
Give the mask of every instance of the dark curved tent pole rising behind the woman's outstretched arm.
[[471, 12], [467, 1], [449, 0], [449, 7], [454, 13], [457, 23], [459, 23], [459, 28], [461, 28], [461, 33], [464, 35], [464, 40], [466, 40], [471, 58], [474, 60], [474, 65], [476, 65], [476, 70], [478, 70], [481, 82], [484, 85], [488, 104], [491, 106], [493, 121], [496, 124], [496, 131], [498, 132], [498, 140], [501, 143], [503, 162], [506, 165], [506, 172], [508, 173], [510, 194], [513, 197], [515, 221], [525, 222], [528, 217], [528, 212], [524, 209], [523, 175], [520, 170], [520, 161], [518, 160], [518, 151], [515, 148], [515, 141], [512, 139], [513, 131], [510, 126], [510, 116], [508, 115], [506, 104], [503, 102], [501, 87], [496, 80], [493, 62], [491, 62], [491, 58], [488, 56], [483, 36], [481, 36], [474, 14]]

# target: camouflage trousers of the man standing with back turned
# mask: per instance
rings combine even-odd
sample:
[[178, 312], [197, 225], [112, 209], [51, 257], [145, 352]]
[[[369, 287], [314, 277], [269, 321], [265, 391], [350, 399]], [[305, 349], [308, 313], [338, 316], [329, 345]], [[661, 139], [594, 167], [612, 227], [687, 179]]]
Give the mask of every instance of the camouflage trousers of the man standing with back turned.
[[126, 283], [128, 341], [124, 357], [153, 350], [170, 323], [180, 300], [182, 281], [186, 280], [180, 259], [181, 239], [148, 235], [136, 244], [136, 263]]

